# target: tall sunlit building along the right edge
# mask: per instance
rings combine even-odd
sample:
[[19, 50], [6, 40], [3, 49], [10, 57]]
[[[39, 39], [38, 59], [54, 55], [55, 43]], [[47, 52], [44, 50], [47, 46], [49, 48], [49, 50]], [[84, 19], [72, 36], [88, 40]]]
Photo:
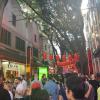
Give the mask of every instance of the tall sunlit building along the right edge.
[[100, 71], [100, 12], [97, 5], [100, 6], [99, 0], [88, 0], [87, 8], [83, 14], [84, 18], [84, 35], [86, 39], [86, 49], [91, 50], [93, 72]]

